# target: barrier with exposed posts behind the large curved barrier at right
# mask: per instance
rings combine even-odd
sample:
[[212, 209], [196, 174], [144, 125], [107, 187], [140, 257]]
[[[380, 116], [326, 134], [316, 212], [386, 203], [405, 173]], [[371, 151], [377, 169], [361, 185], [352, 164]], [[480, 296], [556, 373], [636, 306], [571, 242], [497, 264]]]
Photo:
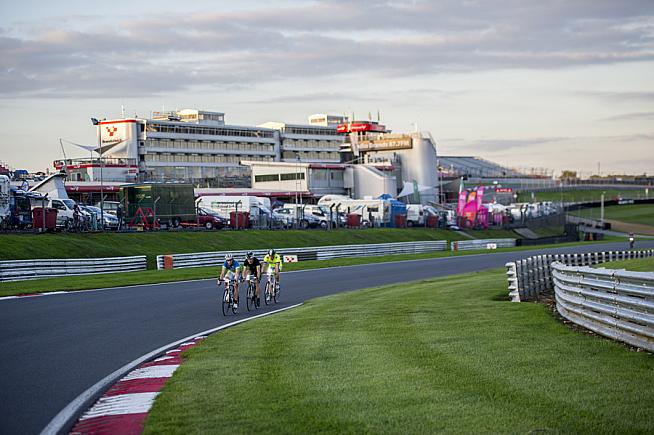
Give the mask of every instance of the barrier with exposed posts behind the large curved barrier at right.
[[538, 300], [545, 290], [552, 290], [552, 263], [567, 266], [592, 266], [607, 261], [654, 256], [654, 249], [642, 251], [607, 251], [588, 254], [543, 254], [506, 263], [509, 297], [513, 302]]

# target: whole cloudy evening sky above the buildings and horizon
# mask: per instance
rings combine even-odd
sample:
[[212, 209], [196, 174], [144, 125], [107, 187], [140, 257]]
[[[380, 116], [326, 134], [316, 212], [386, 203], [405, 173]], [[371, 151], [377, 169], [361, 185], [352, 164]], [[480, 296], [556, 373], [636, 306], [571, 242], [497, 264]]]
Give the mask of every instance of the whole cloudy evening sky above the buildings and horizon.
[[379, 111], [441, 155], [652, 175], [654, 2], [0, 3], [1, 162], [83, 157], [70, 142], [121, 107], [234, 125]]

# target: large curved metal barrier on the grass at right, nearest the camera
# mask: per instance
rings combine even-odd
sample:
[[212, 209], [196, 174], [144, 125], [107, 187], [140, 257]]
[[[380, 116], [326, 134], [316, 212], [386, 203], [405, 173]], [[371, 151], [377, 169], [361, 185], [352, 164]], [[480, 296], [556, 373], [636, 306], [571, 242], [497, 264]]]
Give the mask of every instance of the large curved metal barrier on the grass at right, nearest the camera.
[[552, 263], [556, 309], [598, 334], [654, 352], [654, 273]]

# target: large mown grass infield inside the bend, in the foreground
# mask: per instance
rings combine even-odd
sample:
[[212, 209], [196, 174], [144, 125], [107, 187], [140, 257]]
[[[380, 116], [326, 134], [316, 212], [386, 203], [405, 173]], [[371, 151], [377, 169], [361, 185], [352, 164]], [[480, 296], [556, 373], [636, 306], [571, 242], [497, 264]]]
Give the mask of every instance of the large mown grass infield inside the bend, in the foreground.
[[145, 433], [651, 433], [654, 358], [506, 302], [503, 270], [342, 293], [184, 354]]

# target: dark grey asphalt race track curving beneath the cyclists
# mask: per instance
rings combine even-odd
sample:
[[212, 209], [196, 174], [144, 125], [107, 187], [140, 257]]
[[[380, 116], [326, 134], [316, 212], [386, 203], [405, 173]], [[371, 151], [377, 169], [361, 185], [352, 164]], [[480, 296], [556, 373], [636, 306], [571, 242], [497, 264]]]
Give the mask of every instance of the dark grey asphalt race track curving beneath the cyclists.
[[[654, 248], [654, 241], [637, 248]], [[535, 254], [622, 249], [626, 243], [284, 273], [281, 303], [262, 304], [256, 313], [342, 291], [503, 267]], [[244, 302], [236, 317], [223, 317], [214, 280], [0, 301], [0, 433], [39, 433], [80, 393], [128, 362], [248, 316]]]

